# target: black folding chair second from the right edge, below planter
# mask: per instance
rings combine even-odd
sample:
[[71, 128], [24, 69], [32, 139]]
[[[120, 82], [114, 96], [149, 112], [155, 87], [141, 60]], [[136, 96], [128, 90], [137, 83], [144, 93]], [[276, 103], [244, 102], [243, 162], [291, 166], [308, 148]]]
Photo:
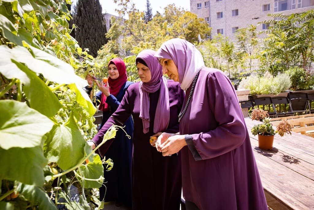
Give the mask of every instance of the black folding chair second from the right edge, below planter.
[[290, 99], [290, 105], [293, 113], [311, 113], [306, 93], [289, 93], [288, 97]]

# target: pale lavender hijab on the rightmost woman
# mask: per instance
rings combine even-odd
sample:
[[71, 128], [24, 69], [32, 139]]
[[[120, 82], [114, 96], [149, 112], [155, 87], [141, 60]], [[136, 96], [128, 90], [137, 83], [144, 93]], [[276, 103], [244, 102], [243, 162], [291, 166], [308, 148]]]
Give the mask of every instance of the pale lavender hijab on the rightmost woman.
[[187, 90], [199, 70], [205, 67], [202, 54], [184, 39], [170, 39], [163, 43], [154, 57], [173, 60], [178, 68], [181, 89]]

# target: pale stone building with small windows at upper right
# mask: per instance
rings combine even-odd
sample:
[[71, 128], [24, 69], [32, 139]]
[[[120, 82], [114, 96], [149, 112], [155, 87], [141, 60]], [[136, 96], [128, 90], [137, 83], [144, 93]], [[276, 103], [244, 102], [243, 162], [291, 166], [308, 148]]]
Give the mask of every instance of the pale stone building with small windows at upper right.
[[221, 33], [234, 41], [237, 29], [252, 24], [257, 26], [257, 31], [265, 30], [268, 26], [258, 23], [272, 19], [267, 14], [290, 15], [311, 10], [314, 0], [190, 0], [190, 8], [212, 28], [205, 38]]

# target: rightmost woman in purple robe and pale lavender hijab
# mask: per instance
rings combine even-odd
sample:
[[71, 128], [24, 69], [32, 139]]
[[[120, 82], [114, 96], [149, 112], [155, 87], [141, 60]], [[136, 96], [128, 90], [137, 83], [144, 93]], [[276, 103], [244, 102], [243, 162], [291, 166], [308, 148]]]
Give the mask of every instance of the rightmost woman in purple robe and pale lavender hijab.
[[163, 156], [181, 151], [187, 209], [268, 209], [236, 92], [204, 65], [193, 44], [171, 39], [156, 52], [163, 72], [186, 91], [180, 132], [162, 133]]

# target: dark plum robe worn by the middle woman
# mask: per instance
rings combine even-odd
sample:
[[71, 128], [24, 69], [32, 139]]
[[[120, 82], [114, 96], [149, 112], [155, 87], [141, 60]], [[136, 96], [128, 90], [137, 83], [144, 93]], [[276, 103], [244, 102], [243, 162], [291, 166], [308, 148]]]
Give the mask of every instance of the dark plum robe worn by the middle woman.
[[[170, 102], [170, 121], [167, 130], [162, 132], [176, 133], [179, 131], [178, 114], [184, 100], [184, 92], [178, 82], [167, 80]], [[181, 159], [172, 155], [164, 157], [149, 143], [154, 128], [154, 118], [160, 91], [149, 93], [149, 132], [143, 133], [142, 119], [139, 118], [140, 94], [139, 82], [127, 89], [121, 104], [115, 113], [100, 129], [92, 141], [98, 145], [104, 133], [114, 123], [121, 125], [132, 115], [133, 160], [132, 160], [132, 195], [135, 210], [179, 210], [181, 201]], [[108, 140], [101, 148], [104, 153], [112, 140]]]

